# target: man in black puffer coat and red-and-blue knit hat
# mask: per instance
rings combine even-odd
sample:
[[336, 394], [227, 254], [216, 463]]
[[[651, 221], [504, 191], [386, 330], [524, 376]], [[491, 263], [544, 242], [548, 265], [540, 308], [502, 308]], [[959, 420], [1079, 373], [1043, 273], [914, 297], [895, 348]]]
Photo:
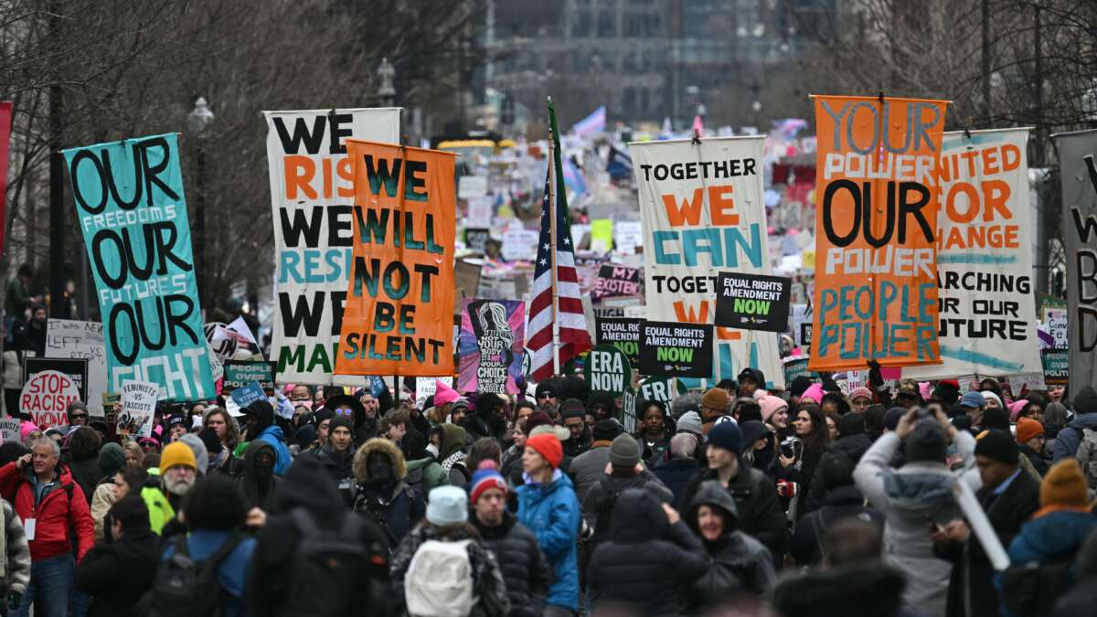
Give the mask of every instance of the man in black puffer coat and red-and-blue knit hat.
[[484, 461], [470, 483], [473, 516], [468, 521], [495, 553], [510, 598], [510, 617], [540, 617], [552, 583], [552, 571], [538, 537], [507, 512], [507, 481]]

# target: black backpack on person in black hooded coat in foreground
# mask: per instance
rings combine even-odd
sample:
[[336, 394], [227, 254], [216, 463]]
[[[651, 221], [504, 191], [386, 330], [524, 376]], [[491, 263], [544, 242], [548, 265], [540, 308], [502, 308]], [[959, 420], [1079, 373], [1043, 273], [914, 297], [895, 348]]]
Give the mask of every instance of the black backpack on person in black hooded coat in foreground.
[[[360, 604], [376, 609], [376, 604], [385, 596], [367, 571], [375, 558], [380, 561], [387, 556], [388, 548], [363, 542], [365, 521], [348, 512], [338, 529], [321, 529], [303, 507], [290, 511], [290, 519], [301, 539], [294, 549], [293, 561], [287, 564], [291, 568], [286, 577], [289, 588], [275, 615], [341, 617], [353, 615]], [[371, 587], [366, 598], [359, 592], [348, 593], [360, 590], [363, 582]]]

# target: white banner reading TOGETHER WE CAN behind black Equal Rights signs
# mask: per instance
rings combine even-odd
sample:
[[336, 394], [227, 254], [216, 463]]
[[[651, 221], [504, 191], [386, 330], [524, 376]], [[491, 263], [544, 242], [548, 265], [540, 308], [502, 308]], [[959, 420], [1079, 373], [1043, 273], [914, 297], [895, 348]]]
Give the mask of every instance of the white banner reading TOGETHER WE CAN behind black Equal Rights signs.
[[[646, 317], [711, 324], [721, 270], [769, 274], [765, 137], [629, 144], [644, 223]], [[778, 335], [716, 328], [712, 379], [760, 369], [783, 388]]]

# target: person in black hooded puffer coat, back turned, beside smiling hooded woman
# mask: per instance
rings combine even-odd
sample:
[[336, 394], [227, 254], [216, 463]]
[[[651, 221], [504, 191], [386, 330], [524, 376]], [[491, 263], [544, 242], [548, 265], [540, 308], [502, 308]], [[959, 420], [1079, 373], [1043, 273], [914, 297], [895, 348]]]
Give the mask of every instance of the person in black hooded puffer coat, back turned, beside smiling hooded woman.
[[[678, 513], [643, 489], [618, 497], [609, 538], [587, 568], [595, 614], [679, 615], [677, 586], [704, 574], [709, 559]], [[669, 585], [669, 588], [668, 588]]]

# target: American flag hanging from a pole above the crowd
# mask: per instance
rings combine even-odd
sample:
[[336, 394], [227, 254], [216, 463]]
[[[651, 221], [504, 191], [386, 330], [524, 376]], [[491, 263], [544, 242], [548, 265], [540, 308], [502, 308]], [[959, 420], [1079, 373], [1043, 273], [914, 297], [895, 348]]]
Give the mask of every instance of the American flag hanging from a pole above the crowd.
[[[562, 182], [556, 186], [559, 187]], [[533, 300], [530, 302], [530, 338], [525, 347], [533, 358], [530, 378], [544, 381], [553, 375], [552, 358], [552, 243], [548, 213], [556, 215], [556, 285], [559, 290], [556, 322], [559, 324], [559, 366], [590, 349], [587, 317], [583, 313], [579, 274], [575, 270], [572, 246], [572, 224], [567, 201], [557, 194], [556, 204], [548, 203], [548, 178], [545, 178], [541, 200], [541, 237], [538, 239], [538, 261], [533, 273]], [[555, 205], [555, 207], [553, 207]]]

